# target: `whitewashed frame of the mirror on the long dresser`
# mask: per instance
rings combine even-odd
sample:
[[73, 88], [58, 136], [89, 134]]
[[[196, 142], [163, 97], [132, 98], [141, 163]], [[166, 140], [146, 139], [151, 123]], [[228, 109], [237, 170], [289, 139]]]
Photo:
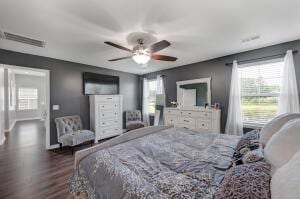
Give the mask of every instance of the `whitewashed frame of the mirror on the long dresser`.
[[[179, 106], [181, 108], [184, 108], [183, 105], [183, 92], [181, 92], [181, 85], [186, 85], [186, 84], [197, 84], [197, 83], [207, 83], [207, 102], [208, 105], [211, 105], [211, 77], [208, 78], [200, 78], [200, 79], [191, 79], [191, 80], [185, 80], [185, 81], [177, 81], [177, 102], [179, 103]], [[197, 106], [188, 106], [189, 108]], [[198, 106], [200, 107], [200, 106]]]

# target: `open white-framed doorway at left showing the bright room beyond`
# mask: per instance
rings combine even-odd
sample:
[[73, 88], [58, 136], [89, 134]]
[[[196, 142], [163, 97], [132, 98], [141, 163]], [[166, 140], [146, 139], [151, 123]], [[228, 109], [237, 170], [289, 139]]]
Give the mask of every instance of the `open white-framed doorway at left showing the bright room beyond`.
[[[4, 70], [6, 136], [11, 139], [20, 138], [22, 140], [20, 143], [23, 144], [43, 142], [41, 146], [50, 149], [49, 70], [12, 65], [0, 65], [0, 67]], [[35, 129], [38, 129], [41, 135], [38, 135]], [[21, 134], [20, 131], [28, 132], [28, 136], [12, 135]], [[41, 141], [41, 138], [44, 141]]]

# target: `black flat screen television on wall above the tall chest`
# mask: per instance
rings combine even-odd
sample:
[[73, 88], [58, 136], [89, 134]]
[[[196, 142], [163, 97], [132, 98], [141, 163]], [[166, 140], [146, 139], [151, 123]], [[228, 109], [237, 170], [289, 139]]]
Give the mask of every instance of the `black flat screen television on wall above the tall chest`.
[[119, 77], [96, 73], [83, 73], [83, 93], [85, 95], [119, 94]]

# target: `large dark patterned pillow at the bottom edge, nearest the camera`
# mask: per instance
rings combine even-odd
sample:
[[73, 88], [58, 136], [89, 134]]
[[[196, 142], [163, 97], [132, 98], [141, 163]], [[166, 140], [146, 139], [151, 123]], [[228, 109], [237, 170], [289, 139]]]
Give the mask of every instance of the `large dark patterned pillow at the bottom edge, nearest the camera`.
[[226, 172], [214, 199], [270, 199], [270, 165], [256, 162], [235, 166]]

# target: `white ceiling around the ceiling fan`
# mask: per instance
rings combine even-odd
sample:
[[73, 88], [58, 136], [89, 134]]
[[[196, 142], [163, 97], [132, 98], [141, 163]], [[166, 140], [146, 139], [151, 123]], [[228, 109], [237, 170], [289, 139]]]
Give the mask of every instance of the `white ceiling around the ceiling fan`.
[[[299, 8], [299, 0], [0, 0], [0, 30], [47, 42], [38, 48], [0, 39], [0, 48], [144, 74], [299, 39]], [[170, 41], [159, 53], [178, 60], [146, 68], [131, 59], [108, 62], [128, 52], [103, 42], [132, 47], [135, 32]]]

